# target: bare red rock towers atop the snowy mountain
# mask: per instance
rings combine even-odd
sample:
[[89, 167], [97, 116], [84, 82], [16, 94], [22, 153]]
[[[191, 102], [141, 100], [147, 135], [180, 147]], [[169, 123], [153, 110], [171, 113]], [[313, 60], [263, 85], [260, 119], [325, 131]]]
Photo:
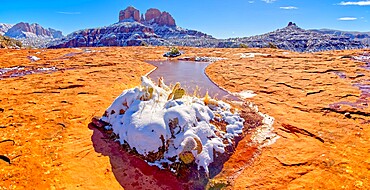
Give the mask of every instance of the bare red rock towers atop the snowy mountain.
[[148, 9], [144, 15], [140, 16], [140, 11], [133, 6], [127, 7], [119, 13], [119, 22], [136, 21], [140, 23], [157, 24], [159, 26], [176, 26], [175, 19], [168, 12], [161, 12], [158, 9]]

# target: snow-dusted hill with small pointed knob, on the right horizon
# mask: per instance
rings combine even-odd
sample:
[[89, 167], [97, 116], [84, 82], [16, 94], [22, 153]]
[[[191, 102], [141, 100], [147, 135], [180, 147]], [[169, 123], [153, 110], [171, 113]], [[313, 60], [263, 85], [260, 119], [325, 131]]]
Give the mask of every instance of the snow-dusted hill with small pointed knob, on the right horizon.
[[316, 52], [327, 50], [360, 49], [367, 46], [361, 41], [344, 35], [323, 34], [304, 30], [290, 22], [287, 27], [262, 35], [246, 38], [232, 38], [221, 42], [219, 47], [273, 47], [297, 52]]

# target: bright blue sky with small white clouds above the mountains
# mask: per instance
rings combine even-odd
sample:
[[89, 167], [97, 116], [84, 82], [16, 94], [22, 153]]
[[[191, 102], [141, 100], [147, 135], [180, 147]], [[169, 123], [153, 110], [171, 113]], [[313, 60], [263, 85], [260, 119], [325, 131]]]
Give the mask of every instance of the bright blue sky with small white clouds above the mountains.
[[69, 34], [113, 24], [129, 5], [141, 13], [170, 12], [178, 26], [217, 38], [262, 34], [289, 21], [305, 29], [370, 32], [370, 0], [18, 0], [1, 2], [0, 23], [39, 23]]

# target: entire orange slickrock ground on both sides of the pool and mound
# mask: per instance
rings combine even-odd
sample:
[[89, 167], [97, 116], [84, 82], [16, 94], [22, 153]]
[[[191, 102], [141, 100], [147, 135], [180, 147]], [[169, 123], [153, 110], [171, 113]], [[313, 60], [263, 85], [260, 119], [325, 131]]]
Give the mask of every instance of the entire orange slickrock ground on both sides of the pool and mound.
[[[345, 58], [366, 50], [180, 50], [183, 56], [227, 58], [211, 64], [206, 73], [231, 92], [254, 91], [257, 96], [248, 100], [275, 117], [275, 132], [281, 136], [254, 159], [249, 152], [255, 147], [247, 145], [246, 137], [215, 183], [234, 189], [370, 187], [370, 112], [367, 97], [353, 86], [366, 83], [370, 72], [361, 67], [364, 63]], [[102, 115], [115, 97], [154, 68], [145, 60], [163, 59], [166, 51], [0, 50], [0, 68], [55, 67], [23, 77], [0, 75], [0, 188], [181, 187], [170, 173], [147, 167], [108, 136], [88, 128], [93, 116]], [[27, 56], [40, 60], [31, 62]], [[359, 108], [335, 104], [356, 101]]]

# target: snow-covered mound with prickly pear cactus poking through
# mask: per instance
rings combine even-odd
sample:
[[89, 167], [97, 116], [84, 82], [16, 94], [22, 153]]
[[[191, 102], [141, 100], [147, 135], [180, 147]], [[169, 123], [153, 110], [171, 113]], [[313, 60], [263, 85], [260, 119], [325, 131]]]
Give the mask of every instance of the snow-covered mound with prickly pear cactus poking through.
[[170, 89], [163, 79], [155, 85], [146, 77], [140, 86], [123, 91], [100, 122], [93, 123], [112, 131], [117, 141], [150, 165], [174, 173], [193, 166], [205, 175], [215, 159], [234, 150], [235, 139], [247, 130], [229, 104], [208, 95], [187, 96], [179, 83]]

